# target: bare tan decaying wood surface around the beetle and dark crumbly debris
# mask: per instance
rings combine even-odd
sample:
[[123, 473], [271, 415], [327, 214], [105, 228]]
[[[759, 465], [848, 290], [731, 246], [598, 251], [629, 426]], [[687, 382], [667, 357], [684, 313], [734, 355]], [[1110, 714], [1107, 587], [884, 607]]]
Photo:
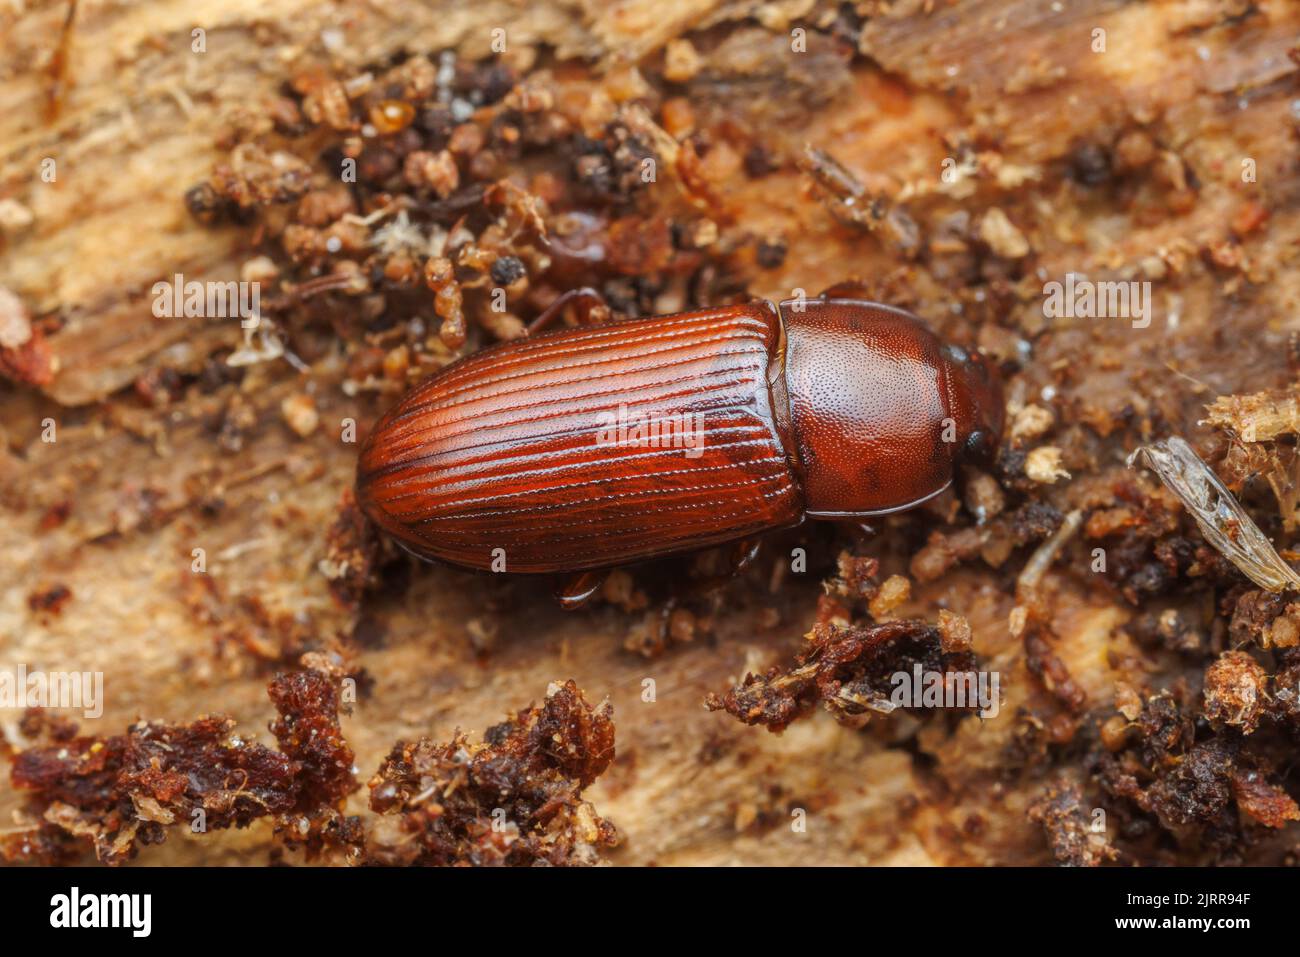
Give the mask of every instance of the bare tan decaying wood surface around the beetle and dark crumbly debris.
[[[649, 0], [82, 0], [60, 75], [51, 64], [65, 5], [20, 0], [0, 10], [0, 200], [30, 213], [0, 225], [0, 287], [35, 326], [53, 320], [52, 380], [0, 386], [0, 664], [103, 671], [108, 700], [87, 726], [95, 733], [138, 715], [218, 710], [260, 728], [272, 716], [270, 671], [291, 661], [295, 642], [346, 638], [373, 680], [343, 720], [363, 779], [395, 740], [481, 731], [573, 677], [590, 700], [614, 705], [619, 758], [586, 797], [625, 836], [616, 863], [1052, 859], [1028, 817], [1046, 771], [1022, 772], [1023, 715], [1061, 700], [1052, 675], [1069, 675], [1086, 709], [1113, 715], [1148, 674], [1179, 674], [1175, 655], [1139, 646], [1128, 629], [1158, 605], [1135, 610], [1086, 573], [1049, 572], [1040, 606], [1050, 612], [1030, 625], [1045, 637], [1027, 640], [1009, 570], [954, 566], [923, 579], [896, 614], [961, 611], [980, 661], [1004, 675], [998, 719], [918, 728], [900, 718], [857, 731], [818, 711], [775, 736], [702, 701], [790, 657], [814, 618], [816, 583], [779, 594], [733, 589], [714, 640], [651, 661], [624, 650], [638, 616], [608, 606], [566, 615], [541, 583], [447, 568], [417, 568], [400, 594], [368, 598], [359, 628], [318, 571], [355, 462], [338, 424], [378, 411], [343, 393], [339, 360], [326, 355], [307, 373], [263, 363], [238, 389], [186, 398], [165, 416], [131, 389], [160, 365], [221, 361], [240, 341], [234, 324], [159, 320], [150, 309], [153, 282], [237, 278], [248, 255], [246, 230], [203, 228], [183, 202], [222, 156], [214, 131], [233, 108], [274, 94], [304, 64], [347, 75], [400, 51], [485, 56], [499, 26], [511, 44], [545, 44], [575, 69], [640, 62], [651, 77], [670, 40], [694, 36], [703, 66], [677, 92], [699, 125], [766, 122], [762, 140], [779, 159], [811, 143], [870, 192], [911, 209], [930, 250], [923, 265], [915, 251], [837, 221], [793, 163], [750, 178], [733, 157], [711, 215], [724, 235], [786, 242], [784, 261], [746, 277], [755, 295], [862, 277], [878, 298], [1002, 358], [1023, 358], [1032, 339], [1010, 402], [1013, 412], [1054, 410], [1050, 441], [1066, 449], [1074, 480], [1040, 493], [1062, 512], [1106, 501], [1122, 481], [1121, 437], [1192, 434], [1214, 397], [1291, 381], [1286, 341], [1300, 293], [1292, 4], [858, 8], [861, 25], [836, 26], [836, 7], [811, 0], [693, 0], [668, 14]], [[191, 52], [196, 26], [207, 30], [203, 55]], [[800, 26], [807, 59], [790, 53]], [[1097, 29], [1104, 52], [1093, 48]], [[47, 157], [53, 183], [40, 179]], [[1121, 174], [1132, 185], [1110, 183]], [[952, 217], [963, 216], [957, 230]], [[945, 246], [945, 230], [962, 238]], [[1150, 281], [1152, 324], [1049, 324], [1043, 283], [1067, 272]], [[307, 387], [322, 426], [302, 438], [281, 404]], [[222, 441], [231, 402], [244, 426]], [[42, 438], [47, 419], [53, 443]], [[66, 520], [49, 520], [62, 512]], [[194, 549], [207, 555], [202, 585], [190, 572]], [[764, 560], [766, 576], [784, 558]], [[60, 611], [29, 603], [56, 584], [72, 593]], [[490, 648], [485, 635], [495, 636]], [[644, 700], [646, 679], [654, 702]], [[21, 744], [13, 713], [0, 722]], [[897, 746], [911, 737], [911, 750]], [[1060, 766], [1083, 774], [1069, 757]], [[1057, 801], [1075, 793], [1053, 788]], [[16, 801], [3, 794], [0, 809]], [[806, 832], [789, 827], [794, 809], [807, 811]], [[147, 853], [261, 862], [268, 839], [254, 827]], [[1257, 859], [1275, 859], [1278, 846], [1265, 841]]]

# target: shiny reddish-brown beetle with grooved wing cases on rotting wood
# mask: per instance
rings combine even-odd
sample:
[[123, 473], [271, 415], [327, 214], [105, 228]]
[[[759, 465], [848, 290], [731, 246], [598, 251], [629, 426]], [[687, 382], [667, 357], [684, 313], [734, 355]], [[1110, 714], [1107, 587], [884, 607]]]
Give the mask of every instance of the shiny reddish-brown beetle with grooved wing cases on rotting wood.
[[[916, 316], [836, 289], [459, 359], [374, 425], [358, 502], [425, 559], [588, 572], [575, 603], [599, 585], [592, 570], [920, 505], [961, 462], [996, 452], [997, 371]], [[598, 302], [573, 290], [532, 330], [575, 299]]]

